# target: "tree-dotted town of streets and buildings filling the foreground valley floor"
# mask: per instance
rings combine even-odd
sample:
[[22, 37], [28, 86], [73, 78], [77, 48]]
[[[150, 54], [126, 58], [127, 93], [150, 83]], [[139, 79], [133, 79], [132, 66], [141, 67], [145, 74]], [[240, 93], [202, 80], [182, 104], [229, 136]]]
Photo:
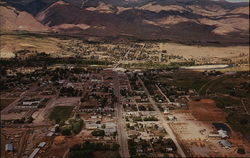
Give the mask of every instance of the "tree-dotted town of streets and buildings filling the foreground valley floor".
[[1, 73], [3, 157], [250, 155], [248, 72], [64, 64]]

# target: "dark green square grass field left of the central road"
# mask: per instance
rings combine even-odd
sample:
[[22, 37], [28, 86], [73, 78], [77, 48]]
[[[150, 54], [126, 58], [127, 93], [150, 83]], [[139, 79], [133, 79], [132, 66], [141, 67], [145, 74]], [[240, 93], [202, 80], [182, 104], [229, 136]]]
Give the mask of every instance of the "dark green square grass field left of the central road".
[[50, 113], [49, 119], [56, 121], [56, 123], [66, 121], [70, 117], [73, 108], [73, 106], [57, 106]]

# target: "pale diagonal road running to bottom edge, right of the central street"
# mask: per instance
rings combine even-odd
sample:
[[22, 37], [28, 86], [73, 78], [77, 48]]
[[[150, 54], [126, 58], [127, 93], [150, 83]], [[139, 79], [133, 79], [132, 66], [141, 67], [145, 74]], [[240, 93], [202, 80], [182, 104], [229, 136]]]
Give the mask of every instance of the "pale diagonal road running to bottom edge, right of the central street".
[[178, 141], [177, 141], [177, 139], [176, 139], [176, 136], [175, 136], [174, 132], [172, 131], [172, 129], [170, 128], [169, 124], [168, 124], [167, 121], [165, 120], [163, 113], [162, 113], [162, 112], [159, 110], [159, 108], [156, 106], [156, 103], [155, 103], [155, 101], [152, 99], [152, 97], [150, 96], [150, 94], [149, 94], [147, 88], [146, 88], [145, 85], [144, 85], [144, 82], [141, 80], [140, 77], [138, 77], [138, 80], [139, 80], [139, 82], [142, 84], [143, 89], [144, 89], [145, 93], [146, 93], [147, 96], [148, 96], [149, 102], [153, 105], [155, 111], [158, 113], [159, 119], [160, 119], [160, 121], [161, 121], [163, 127], [164, 127], [165, 130], [167, 131], [167, 133], [168, 133], [168, 135], [170, 136], [170, 138], [174, 141], [174, 143], [175, 143], [175, 145], [176, 145], [176, 147], [177, 147], [177, 153], [179, 153], [179, 155], [180, 155], [181, 157], [186, 157], [184, 151], [182, 150], [180, 144], [178, 143]]

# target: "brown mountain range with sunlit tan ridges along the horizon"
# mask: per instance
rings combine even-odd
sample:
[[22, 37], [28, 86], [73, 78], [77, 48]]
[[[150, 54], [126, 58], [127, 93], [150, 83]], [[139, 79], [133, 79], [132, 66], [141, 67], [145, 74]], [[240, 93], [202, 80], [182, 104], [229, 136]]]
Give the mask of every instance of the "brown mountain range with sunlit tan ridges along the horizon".
[[249, 3], [224, 0], [4, 0], [2, 30], [176, 42], [249, 42]]

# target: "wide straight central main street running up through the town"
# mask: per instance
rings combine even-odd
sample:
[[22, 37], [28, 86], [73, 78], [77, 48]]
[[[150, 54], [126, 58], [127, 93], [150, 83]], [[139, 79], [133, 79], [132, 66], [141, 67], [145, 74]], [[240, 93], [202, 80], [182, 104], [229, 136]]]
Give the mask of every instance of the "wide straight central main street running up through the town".
[[120, 144], [120, 154], [122, 158], [129, 158], [129, 150], [128, 150], [128, 136], [126, 132], [126, 125], [123, 119], [122, 111], [122, 103], [121, 103], [121, 95], [120, 95], [120, 86], [119, 86], [119, 77], [118, 73], [115, 72], [114, 78], [114, 93], [117, 97], [117, 103], [115, 105], [116, 108], [116, 117], [117, 117], [117, 133], [118, 133], [118, 142]]

